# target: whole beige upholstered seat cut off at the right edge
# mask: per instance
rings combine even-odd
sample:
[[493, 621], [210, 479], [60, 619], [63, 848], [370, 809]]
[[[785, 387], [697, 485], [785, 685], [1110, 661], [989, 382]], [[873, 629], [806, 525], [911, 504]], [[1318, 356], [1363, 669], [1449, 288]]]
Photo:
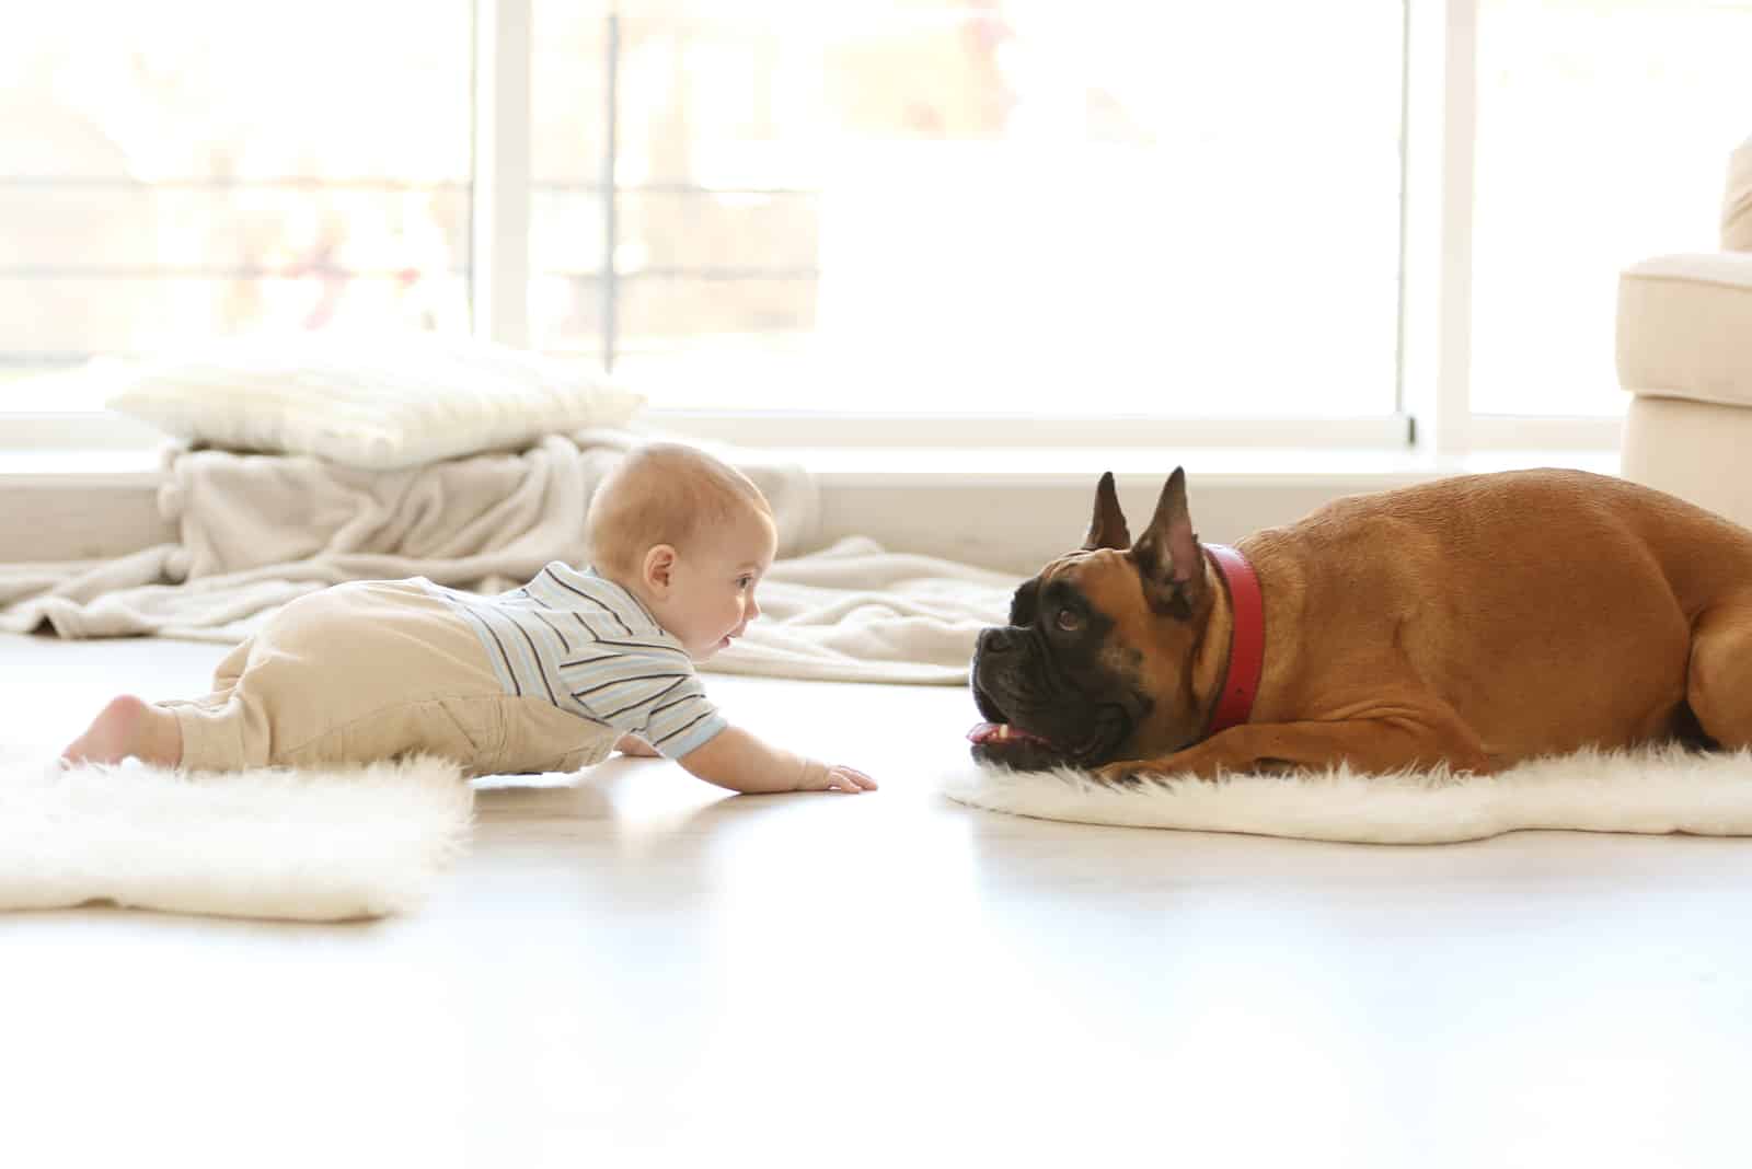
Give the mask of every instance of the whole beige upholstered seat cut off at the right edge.
[[1752, 138], [1729, 159], [1722, 250], [1619, 276], [1621, 472], [1752, 527]]

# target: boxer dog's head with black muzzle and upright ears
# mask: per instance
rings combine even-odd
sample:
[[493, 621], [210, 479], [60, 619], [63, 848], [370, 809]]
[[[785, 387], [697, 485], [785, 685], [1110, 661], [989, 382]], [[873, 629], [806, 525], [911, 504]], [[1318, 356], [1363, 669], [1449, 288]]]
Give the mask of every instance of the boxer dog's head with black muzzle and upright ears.
[[1090, 768], [1179, 751], [1204, 733], [1191, 663], [1212, 583], [1176, 467], [1132, 542], [1113, 474], [1083, 548], [1016, 590], [1009, 625], [981, 630], [972, 754], [1016, 770]]

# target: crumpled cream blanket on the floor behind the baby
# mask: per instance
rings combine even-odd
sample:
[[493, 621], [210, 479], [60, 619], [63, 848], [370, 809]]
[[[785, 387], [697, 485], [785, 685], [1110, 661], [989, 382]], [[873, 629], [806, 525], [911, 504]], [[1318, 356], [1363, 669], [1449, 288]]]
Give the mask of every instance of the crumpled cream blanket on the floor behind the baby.
[[[352, 579], [426, 576], [473, 592], [522, 584], [550, 560], [585, 564], [590, 494], [648, 436], [587, 430], [520, 453], [405, 471], [300, 455], [180, 452], [159, 508], [172, 544], [84, 564], [0, 565], [0, 630], [237, 642], [280, 606]], [[780, 556], [766, 618], [706, 668], [781, 677], [960, 682], [974, 635], [1004, 618], [1014, 578], [867, 539], [820, 548], [806, 471], [717, 448], [760, 485]]]

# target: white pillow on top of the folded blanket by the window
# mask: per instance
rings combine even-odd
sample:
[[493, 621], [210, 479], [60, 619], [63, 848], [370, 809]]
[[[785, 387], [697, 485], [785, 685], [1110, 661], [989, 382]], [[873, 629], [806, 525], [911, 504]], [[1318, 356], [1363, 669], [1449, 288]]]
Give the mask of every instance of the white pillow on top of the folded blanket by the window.
[[587, 364], [433, 334], [226, 341], [107, 376], [110, 410], [179, 439], [370, 469], [617, 427], [645, 404]]

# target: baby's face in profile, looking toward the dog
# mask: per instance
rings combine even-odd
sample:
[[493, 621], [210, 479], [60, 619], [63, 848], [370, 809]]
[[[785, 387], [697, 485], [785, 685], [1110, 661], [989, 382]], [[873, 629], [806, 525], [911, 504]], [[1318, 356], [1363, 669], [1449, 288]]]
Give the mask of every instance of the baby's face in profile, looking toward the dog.
[[757, 511], [699, 534], [676, 551], [675, 588], [664, 612], [655, 616], [690, 658], [704, 662], [760, 616], [755, 586], [776, 553], [773, 520]]

